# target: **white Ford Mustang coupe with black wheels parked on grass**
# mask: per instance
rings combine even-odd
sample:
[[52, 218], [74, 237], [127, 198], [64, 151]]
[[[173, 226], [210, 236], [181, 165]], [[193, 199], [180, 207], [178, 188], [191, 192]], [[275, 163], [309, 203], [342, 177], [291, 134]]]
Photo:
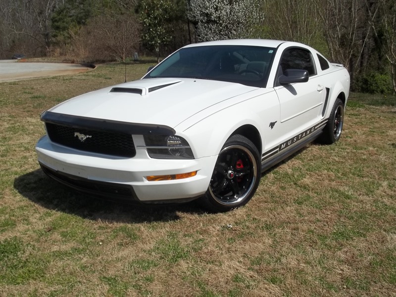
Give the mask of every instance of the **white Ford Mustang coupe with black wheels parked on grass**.
[[46, 174], [85, 193], [227, 211], [269, 167], [339, 140], [348, 93], [347, 70], [299, 43], [194, 44], [45, 111], [36, 151]]

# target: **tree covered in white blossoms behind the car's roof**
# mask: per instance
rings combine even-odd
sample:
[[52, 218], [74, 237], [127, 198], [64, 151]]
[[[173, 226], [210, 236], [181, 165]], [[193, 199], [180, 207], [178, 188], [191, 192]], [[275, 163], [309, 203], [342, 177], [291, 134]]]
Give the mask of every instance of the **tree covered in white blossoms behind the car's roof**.
[[248, 38], [262, 21], [259, 0], [190, 0], [188, 17], [199, 41]]

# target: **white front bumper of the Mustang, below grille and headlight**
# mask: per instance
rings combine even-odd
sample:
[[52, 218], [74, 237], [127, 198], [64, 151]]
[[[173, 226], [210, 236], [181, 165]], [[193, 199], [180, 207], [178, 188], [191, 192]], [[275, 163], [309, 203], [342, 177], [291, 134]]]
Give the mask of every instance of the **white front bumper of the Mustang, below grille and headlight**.
[[[133, 137], [135, 143], [141, 141], [141, 136]], [[217, 159], [152, 159], [146, 148], [137, 148], [133, 158], [122, 158], [59, 146], [51, 143], [48, 136], [39, 140], [36, 151], [44, 172], [63, 184], [105, 198], [140, 202], [181, 202], [203, 195]], [[186, 179], [146, 179], [192, 171], [198, 171], [197, 175]]]

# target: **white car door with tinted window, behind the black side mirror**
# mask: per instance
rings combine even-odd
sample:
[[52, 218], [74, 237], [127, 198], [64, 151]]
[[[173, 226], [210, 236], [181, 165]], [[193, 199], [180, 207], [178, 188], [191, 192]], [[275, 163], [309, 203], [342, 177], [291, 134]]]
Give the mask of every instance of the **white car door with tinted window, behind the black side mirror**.
[[[306, 70], [307, 82], [281, 85], [278, 78], [289, 69]], [[308, 49], [291, 47], [282, 53], [274, 87], [280, 104], [280, 138], [278, 142], [311, 128], [320, 119], [325, 87], [320, 84], [312, 53]]]

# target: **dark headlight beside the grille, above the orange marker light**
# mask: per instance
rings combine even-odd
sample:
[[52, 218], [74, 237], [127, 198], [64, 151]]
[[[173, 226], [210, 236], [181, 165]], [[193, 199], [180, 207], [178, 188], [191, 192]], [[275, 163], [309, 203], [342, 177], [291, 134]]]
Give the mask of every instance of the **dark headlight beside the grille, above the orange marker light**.
[[155, 159], [193, 159], [193, 151], [180, 136], [144, 135], [148, 155]]

